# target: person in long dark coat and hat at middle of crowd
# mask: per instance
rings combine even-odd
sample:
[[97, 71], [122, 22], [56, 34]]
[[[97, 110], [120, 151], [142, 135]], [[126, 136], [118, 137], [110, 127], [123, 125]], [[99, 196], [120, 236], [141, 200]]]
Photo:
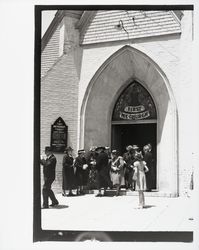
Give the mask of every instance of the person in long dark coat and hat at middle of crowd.
[[112, 187], [110, 180], [109, 168], [108, 168], [108, 154], [105, 152], [105, 147], [97, 147], [96, 169], [97, 169], [97, 185], [98, 194], [97, 197], [101, 197], [101, 188], [104, 188], [104, 195], [106, 195], [107, 187]]

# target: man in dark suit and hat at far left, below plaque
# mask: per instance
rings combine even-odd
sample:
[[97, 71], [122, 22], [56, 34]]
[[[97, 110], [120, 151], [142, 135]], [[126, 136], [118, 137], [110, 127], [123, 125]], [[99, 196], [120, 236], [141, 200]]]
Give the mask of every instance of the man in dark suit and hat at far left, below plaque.
[[46, 157], [41, 159], [41, 165], [43, 165], [44, 174], [44, 185], [42, 189], [43, 194], [43, 208], [49, 208], [48, 197], [51, 199], [52, 204], [50, 206], [56, 206], [59, 204], [58, 200], [51, 189], [51, 185], [55, 180], [55, 167], [56, 167], [56, 157], [52, 153], [51, 147], [45, 148]]

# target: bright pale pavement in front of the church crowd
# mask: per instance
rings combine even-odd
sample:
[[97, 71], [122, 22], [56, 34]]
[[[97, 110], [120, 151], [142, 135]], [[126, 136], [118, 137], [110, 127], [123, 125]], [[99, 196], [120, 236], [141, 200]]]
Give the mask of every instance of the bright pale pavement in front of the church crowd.
[[42, 209], [44, 230], [193, 231], [193, 199], [146, 197], [138, 209], [138, 196], [63, 197], [59, 205]]

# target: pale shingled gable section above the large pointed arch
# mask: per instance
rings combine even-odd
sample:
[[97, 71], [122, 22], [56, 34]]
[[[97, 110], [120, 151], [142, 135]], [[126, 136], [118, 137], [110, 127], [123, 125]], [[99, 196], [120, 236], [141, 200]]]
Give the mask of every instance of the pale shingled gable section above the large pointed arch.
[[[117, 29], [119, 22], [126, 31]], [[97, 11], [86, 27], [82, 27], [80, 43], [84, 45], [180, 32], [180, 23], [172, 11]]]

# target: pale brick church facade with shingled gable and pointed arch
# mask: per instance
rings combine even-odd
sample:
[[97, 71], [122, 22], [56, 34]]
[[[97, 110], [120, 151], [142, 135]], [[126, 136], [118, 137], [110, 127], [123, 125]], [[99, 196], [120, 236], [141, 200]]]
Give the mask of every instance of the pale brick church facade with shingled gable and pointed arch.
[[186, 193], [192, 30], [188, 10], [57, 11], [41, 44], [40, 140], [55, 147], [60, 192], [62, 139], [75, 152], [151, 143], [155, 195]]

